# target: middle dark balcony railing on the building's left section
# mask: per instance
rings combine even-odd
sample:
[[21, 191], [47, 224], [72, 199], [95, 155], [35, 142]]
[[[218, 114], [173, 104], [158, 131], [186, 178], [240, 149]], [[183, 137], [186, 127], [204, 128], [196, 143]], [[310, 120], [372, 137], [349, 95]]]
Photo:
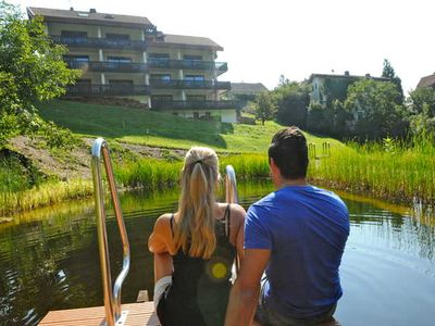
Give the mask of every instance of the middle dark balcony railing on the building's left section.
[[65, 60], [70, 68], [89, 72], [145, 73], [147, 65], [136, 62]]

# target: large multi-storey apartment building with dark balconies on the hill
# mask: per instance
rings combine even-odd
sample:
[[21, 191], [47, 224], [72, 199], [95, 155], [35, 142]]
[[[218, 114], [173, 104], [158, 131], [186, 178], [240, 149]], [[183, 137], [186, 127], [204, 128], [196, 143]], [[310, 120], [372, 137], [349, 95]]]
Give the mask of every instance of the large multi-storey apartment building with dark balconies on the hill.
[[89, 11], [27, 8], [42, 16], [46, 33], [69, 48], [64, 60], [83, 71], [66, 97], [114, 97], [190, 118], [237, 122], [237, 102], [222, 100], [229, 82], [217, 77], [223, 48], [207, 37], [159, 32], [146, 17]]

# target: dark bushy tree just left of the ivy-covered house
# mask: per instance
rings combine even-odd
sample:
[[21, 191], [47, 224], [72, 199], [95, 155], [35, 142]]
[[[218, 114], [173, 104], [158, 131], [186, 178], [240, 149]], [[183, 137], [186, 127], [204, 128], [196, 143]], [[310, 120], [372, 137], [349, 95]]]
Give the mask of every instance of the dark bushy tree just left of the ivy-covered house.
[[276, 118], [287, 126], [306, 128], [311, 86], [304, 82], [288, 82], [284, 76], [281, 79], [283, 83], [273, 90], [277, 105]]

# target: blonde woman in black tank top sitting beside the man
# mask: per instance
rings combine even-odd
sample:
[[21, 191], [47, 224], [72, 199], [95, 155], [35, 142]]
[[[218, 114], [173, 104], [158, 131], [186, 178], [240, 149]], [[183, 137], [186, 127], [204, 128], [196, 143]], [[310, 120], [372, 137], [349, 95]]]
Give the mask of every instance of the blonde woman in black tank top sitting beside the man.
[[165, 325], [223, 325], [232, 265], [241, 259], [245, 210], [215, 201], [216, 153], [194, 147], [182, 171], [178, 211], [154, 224], [154, 304]]

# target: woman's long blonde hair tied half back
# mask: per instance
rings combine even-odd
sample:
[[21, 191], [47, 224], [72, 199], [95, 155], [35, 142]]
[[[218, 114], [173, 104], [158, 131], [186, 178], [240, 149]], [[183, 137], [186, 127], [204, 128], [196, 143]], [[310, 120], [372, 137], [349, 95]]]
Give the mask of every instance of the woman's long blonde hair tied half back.
[[216, 153], [207, 147], [192, 147], [182, 170], [179, 220], [174, 225], [175, 248], [189, 256], [209, 259], [216, 248], [213, 204], [220, 178]]

